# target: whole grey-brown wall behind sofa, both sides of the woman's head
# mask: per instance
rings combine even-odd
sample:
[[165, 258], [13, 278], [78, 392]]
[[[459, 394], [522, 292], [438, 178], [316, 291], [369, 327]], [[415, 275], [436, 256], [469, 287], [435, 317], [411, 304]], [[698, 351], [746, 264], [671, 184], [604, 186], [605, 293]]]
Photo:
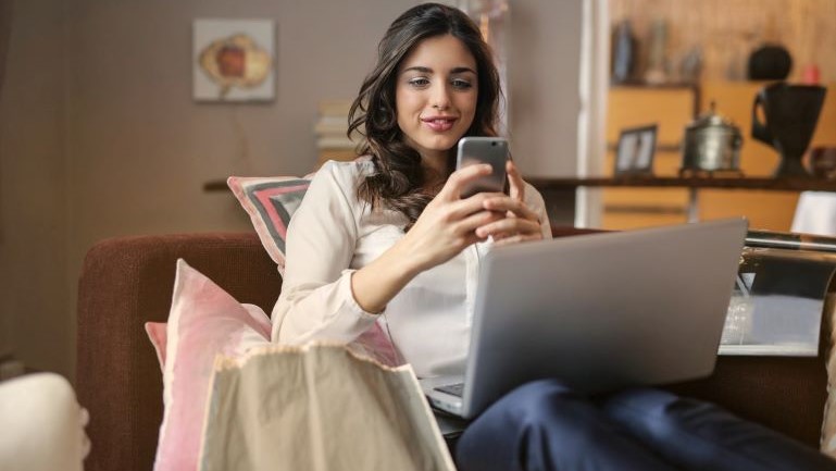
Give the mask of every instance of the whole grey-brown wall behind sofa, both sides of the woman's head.
[[[249, 231], [234, 198], [203, 183], [308, 172], [316, 102], [352, 97], [385, 28], [415, 3], [18, 2], [0, 101], [2, 309], [16, 355], [73, 376], [76, 283], [97, 240]], [[581, 7], [557, 3], [512, 4], [511, 133], [527, 173], [574, 173]], [[275, 102], [191, 100], [196, 17], [276, 20]]]

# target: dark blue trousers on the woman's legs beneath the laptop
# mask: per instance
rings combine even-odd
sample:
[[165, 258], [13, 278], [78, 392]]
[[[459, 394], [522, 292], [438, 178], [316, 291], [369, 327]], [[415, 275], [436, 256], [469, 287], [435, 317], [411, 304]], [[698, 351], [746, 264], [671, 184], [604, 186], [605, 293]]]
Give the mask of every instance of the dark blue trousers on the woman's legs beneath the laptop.
[[836, 460], [707, 402], [657, 389], [591, 401], [556, 380], [500, 399], [456, 455], [460, 471], [836, 471]]

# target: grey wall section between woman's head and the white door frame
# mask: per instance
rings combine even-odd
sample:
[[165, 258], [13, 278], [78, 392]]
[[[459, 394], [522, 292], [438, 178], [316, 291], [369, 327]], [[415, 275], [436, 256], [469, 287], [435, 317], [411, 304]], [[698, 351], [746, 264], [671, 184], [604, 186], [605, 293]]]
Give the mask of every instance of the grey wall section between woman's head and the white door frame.
[[524, 173], [574, 175], [583, 1], [511, 2], [510, 138]]

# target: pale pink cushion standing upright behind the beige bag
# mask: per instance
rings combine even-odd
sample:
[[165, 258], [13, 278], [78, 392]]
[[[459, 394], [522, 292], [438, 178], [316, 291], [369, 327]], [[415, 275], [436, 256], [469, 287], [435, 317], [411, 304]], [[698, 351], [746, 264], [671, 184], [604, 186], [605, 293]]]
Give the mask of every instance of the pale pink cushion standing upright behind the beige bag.
[[237, 356], [270, 338], [270, 319], [177, 261], [165, 348], [159, 325], [146, 325], [163, 363], [163, 404], [155, 471], [196, 471], [215, 356]]

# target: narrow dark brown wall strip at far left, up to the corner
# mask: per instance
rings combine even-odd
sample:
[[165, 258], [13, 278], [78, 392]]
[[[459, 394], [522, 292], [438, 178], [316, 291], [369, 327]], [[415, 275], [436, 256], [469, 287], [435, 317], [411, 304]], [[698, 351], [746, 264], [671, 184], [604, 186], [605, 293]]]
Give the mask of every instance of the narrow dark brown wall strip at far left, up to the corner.
[[68, 372], [62, 42], [61, 0], [16, 2], [0, 95], [0, 337]]

